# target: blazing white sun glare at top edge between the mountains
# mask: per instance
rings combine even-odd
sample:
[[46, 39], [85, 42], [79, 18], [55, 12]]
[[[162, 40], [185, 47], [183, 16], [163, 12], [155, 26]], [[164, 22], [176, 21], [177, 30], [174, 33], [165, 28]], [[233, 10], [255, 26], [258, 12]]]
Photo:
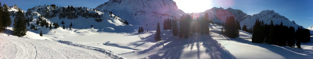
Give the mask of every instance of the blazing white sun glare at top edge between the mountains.
[[199, 13], [210, 9], [212, 0], [173, 0], [185, 13]]

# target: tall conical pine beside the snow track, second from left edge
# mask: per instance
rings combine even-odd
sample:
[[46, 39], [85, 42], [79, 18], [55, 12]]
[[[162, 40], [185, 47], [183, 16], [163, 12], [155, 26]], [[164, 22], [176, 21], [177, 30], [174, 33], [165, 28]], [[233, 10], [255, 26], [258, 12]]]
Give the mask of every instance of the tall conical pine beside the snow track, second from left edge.
[[24, 13], [21, 9], [15, 15], [14, 24], [13, 24], [13, 35], [22, 37], [26, 35], [27, 28], [26, 28], [26, 18]]

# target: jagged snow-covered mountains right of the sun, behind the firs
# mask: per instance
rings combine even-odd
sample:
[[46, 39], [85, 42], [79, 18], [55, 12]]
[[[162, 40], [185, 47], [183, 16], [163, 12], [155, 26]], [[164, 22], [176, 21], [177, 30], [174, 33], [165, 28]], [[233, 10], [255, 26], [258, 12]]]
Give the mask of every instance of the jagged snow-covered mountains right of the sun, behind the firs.
[[258, 14], [248, 15], [239, 9], [223, 9], [223, 8], [216, 8], [213, 7], [201, 13], [191, 13], [196, 17], [202, 17], [205, 13], [209, 14], [209, 18], [213, 19], [216, 23], [225, 22], [226, 18], [229, 16], [235, 16], [235, 20], [239, 20], [240, 26], [247, 25], [247, 28], [250, 28], [254, 25], [256, 19], [260, 21], [264, 21], [264, 24], [269, 24], [271, 20], [273, 20], [274, 24], [280, 24], [283, 22], [283, 25], [292, 26], [295, 28], [302, 26], [295, 23], [295, 21], [290, 21], [285, 16], [280, 15], [279, 13], [275, 13], [274, 10], [264, 10]]

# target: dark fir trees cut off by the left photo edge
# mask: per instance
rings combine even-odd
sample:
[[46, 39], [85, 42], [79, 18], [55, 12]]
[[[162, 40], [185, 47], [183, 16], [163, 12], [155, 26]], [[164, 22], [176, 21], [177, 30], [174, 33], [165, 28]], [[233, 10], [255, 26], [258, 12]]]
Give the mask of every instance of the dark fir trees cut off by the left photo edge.
[[[3, 6], [7, 6], [4, 4]], [[10, 12], [8, 8], [2, 7], [0, 2], [0, 33], [2, 33], [8, 26], [11, 25]]]

